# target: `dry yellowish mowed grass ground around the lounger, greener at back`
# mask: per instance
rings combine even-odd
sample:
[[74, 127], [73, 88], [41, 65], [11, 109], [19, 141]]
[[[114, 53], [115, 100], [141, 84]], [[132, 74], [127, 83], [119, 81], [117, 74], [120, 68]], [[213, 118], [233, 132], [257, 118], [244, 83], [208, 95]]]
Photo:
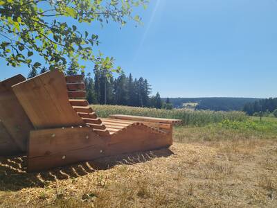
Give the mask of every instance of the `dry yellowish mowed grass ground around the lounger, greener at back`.
[[[132, 110], [110, 107], [102, 116]], [[2, 157], [0, 207], [277, 207], [277, 121], [197, 113], [175, 127], [170, 148], [39, 173]]]

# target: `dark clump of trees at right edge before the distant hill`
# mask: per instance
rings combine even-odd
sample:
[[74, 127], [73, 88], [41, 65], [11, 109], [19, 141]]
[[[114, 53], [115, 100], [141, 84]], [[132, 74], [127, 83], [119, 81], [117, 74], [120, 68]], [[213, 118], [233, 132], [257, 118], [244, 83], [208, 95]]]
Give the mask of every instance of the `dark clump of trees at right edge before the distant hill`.
[[277, 98], [268, 98], [253, 103], [247, 103], [244, 105], [243, 111], [250, 116], [265, 113], [274, 113], [274, 115], [277, 116]]

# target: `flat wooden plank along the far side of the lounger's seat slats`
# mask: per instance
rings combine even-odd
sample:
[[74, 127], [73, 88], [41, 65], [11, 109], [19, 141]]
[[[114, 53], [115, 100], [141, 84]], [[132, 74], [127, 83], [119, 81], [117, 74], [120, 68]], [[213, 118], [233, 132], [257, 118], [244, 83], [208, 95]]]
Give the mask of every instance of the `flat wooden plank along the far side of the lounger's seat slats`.
[[169, 124], [181, 123], [181, 120], [179, 120], [179, 119], [161, 119], [161, 118], [152, 118], [152, 117], [145, 117], [145, 116], [130, 116], [130, 115], [121, 115], [121, 114], [110, 115], [109, 118], [131, 120], [131, 121], [169, 123]]

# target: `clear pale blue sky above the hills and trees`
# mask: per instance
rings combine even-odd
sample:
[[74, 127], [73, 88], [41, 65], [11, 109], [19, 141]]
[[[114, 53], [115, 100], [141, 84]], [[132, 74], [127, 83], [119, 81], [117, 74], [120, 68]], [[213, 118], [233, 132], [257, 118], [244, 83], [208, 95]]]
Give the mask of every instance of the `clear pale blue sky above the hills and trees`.
[[[277, 96], [276, 0], [152, 0], [139, 15], [143, 26], [85, 27], [99, 34], [102, 53], [147, 78], [153, 93]], [[28, 73], [0, 61], [0, 79]]]

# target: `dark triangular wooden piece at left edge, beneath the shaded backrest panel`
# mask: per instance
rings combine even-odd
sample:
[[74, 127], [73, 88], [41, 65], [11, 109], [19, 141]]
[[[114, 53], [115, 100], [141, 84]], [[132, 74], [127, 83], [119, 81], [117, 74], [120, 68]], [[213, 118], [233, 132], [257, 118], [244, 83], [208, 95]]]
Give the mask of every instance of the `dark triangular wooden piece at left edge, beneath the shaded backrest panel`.
[[21, 150], [15, 144], [8, 131], [0, 122], [0, 156], [12, 156], [21, 154]]

